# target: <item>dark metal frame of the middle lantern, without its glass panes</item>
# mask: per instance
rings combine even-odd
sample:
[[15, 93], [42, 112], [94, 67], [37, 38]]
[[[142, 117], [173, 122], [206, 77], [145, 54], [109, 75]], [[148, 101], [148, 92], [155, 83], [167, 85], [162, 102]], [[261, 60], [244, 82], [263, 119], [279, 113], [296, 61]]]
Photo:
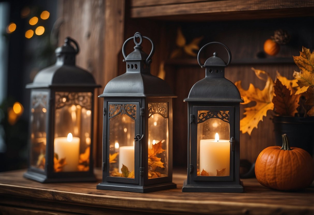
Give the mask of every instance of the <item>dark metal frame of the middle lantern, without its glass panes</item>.
[[[142, 51], [142, 40], [148, 39], [152, 45], [150, 54]], [[125, 55], [125, 45], [132, 40], [135, 43], [134, 51]], [[137, 42], [136, 39], [139, 39]], [[108, 82], [104, 93], [103, 117], [103, 164], [102, 182], [97, 189], [129, 192], [151, 192], [176, 188], [172, 183], [172, 94], [169, 85], [162, 79], [150, 74], [151, 57], [154, 54], [154, 44], [148, 37], [136, 32], [128, 38], [122, 46], [123, 61], [126, 61], [126, 73], [117, 76]], [[168, 174], [165, 177], [148, 179], [148, 104], [150, 102], [167, 102], [168, 104]], [[136, 104], [136, 120], [134, 134], [135, 150], [135, 177], [114, 177], [109, 174], [109, 104]]]

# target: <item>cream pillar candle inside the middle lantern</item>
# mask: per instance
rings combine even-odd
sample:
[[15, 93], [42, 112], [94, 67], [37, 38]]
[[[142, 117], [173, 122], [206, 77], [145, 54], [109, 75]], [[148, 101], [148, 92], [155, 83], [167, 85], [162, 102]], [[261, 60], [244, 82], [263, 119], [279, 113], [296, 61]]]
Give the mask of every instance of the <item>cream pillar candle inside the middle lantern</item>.
[[122, 173], [122, 164], [127, 167], [129, 172], [134, 170], [134, 145], [120, 146], [119, 148], [119, 172]]

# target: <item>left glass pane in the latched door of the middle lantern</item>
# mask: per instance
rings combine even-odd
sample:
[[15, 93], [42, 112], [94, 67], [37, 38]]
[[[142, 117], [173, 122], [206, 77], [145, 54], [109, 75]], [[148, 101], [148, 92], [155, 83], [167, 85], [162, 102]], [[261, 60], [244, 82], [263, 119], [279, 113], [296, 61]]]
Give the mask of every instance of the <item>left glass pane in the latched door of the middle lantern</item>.
[[135, 104], [109, 104], [109, 175], [134, 178]]

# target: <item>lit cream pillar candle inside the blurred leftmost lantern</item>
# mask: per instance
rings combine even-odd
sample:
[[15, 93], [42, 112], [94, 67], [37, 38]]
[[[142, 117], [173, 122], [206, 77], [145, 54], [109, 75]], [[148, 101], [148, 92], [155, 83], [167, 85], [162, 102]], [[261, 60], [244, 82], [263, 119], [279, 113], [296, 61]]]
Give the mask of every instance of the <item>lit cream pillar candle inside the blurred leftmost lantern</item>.
[[63, 172], [78, 171], [79, 158], [79, 137], [56, 137], [54, 141], [54, 152], [57, 153], [58, 159], [65, 158], [66, 165], [63, 166]]

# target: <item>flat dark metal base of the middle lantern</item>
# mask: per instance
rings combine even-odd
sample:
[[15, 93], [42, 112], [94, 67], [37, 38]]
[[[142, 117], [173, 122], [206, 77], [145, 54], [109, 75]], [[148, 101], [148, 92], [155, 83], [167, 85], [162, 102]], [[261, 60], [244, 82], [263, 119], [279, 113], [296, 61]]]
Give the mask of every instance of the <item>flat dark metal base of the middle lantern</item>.
[[137, 192], [137, 193], [148, 193], [153, 191], [160, 190], [169, 190], [175, 189], [175, 183], [165, 183], [165, 184], [157, 184], [150, 186], [136, 186], [136, 185], [125, 185], [125, 184], [108, 184], [108, 183], [99, 183], [96, 188], [98, 190], [115, 190], [115, 191], [127, 191], [127, 192]]

